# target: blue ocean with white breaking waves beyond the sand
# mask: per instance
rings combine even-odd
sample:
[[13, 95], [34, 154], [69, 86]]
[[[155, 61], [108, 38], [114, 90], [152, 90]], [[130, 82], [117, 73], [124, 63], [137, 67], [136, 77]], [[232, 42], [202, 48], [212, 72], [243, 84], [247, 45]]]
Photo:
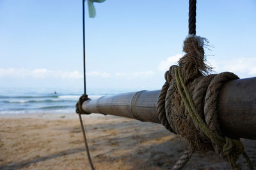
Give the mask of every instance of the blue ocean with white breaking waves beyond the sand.
[[[87, 89], [90, 99], [136, 89]], [[55, 93], [56, 92], [56, 93]], [[83, 89], [0, 88], [0, 114], [75, 113]]]

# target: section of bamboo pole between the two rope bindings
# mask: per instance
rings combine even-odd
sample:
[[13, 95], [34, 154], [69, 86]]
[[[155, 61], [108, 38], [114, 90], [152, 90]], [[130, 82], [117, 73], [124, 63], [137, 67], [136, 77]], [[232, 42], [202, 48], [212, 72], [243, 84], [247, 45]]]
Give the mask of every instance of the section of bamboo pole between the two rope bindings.
[[143, 90], [111, 97], [104, 96], [96, 100], [85, 101], [83, 110], [87, 113], [104, 113], [160, 124], [156, 108], [159, 94], [160, 90]]

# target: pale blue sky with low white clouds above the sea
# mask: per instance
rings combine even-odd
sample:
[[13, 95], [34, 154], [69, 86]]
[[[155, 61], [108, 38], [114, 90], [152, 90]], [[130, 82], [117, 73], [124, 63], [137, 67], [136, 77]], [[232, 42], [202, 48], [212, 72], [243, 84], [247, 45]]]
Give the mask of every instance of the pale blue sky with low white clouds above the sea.
[[[188, 36], [188, 0], [86, 6], [87, 88], [161, 89]], [[83, 88], [82, 1], [0, 0], [0, 87]], [[256, 76], [256, 1], [197, 1], [216, 73]], [[209, 48], [209, 49], [208, 49]]]

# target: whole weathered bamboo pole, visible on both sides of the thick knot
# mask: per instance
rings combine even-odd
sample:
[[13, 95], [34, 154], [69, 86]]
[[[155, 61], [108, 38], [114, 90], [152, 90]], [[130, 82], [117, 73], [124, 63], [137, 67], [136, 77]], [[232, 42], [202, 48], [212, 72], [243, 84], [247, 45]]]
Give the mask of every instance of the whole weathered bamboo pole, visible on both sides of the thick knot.
[[[160, 90], [100, 97], [83, 103], [88, 113], [104, 113], [160, 124], [157, 100]], [[218, 113], [227, 136], [256, 139], [256, 77], [228, 81], [221, 88]]]

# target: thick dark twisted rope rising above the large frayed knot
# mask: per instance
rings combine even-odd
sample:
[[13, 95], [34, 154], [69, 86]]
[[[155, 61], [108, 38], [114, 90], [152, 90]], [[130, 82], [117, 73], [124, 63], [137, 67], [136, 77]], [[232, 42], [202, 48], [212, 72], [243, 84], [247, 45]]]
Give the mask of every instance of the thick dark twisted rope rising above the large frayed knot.
[[189, 0], [188, 34], [196, 35], [196, 0]]

